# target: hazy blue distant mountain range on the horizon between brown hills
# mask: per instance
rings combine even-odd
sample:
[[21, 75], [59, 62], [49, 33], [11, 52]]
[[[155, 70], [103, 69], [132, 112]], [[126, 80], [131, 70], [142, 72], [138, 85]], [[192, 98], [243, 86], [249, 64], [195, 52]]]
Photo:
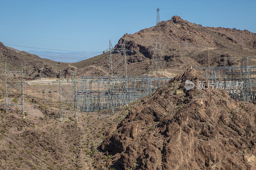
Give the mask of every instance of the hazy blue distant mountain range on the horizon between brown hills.
[[57, 62], [64, 63], [75, 63], [82, 60], [86, 60], [88, 58], [94, 57], [96, 55], [100, 55], [100, 52], [53, 52], [53, 51], [36, 51], [30, 50], [28, 53], [35, 54], [40, 56], [41, 58], [47, 58]]

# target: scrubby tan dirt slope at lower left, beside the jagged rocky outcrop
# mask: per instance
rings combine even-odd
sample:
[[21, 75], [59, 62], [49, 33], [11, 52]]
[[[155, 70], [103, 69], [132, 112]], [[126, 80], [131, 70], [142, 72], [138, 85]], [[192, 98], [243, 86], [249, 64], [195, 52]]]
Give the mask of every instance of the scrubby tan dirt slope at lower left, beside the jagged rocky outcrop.
[[78, 111], [79, 122], [71, 115], [60, 122], [59, 93], [53, 94], [52, 101], [39, 95], [39, 90], [48, 87], [59, 88], [24, 85], [25, 119], [16, 110], [5, 113], [5, 91], [0, 88], [0, 169], [97, 169], [93, 168], [94, 158], [102, 155], [97, 147], [103, 141], [103, 131], [120, 122], [128, 110], [115, 114]]

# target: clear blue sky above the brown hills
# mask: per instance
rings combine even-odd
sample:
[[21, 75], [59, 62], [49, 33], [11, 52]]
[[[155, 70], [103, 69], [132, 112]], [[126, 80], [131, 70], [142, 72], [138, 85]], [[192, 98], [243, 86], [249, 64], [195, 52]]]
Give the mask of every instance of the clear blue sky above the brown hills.
[[[77, 51], [103, 51], [125, 33], [135, 33], [174, 15], [202, 26], [256, 33], [256, 1], [0, 0], [4, 44]], [[20, 50], [43, 50], [7, 45]]]

